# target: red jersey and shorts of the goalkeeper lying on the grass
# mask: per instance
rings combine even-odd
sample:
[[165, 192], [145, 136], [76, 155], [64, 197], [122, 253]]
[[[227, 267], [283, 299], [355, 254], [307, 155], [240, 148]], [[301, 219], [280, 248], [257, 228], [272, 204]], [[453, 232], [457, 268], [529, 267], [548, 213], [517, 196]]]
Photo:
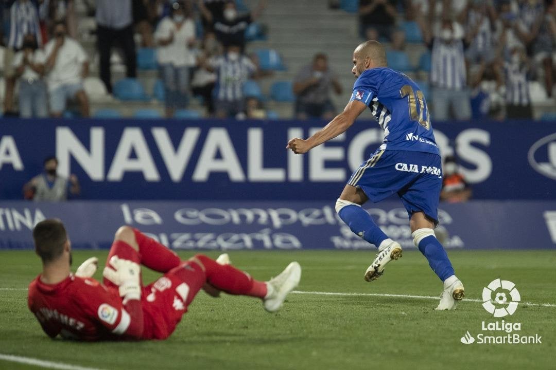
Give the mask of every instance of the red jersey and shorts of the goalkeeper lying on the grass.
[[142, 286], [141, 301], [123, 305], [116, 286], [70, 274], [57, 284], [29, 285], [28, 305], [49, 336], [86, 341], [165, 339], [205, 283], [205, 273], [188, 262]]

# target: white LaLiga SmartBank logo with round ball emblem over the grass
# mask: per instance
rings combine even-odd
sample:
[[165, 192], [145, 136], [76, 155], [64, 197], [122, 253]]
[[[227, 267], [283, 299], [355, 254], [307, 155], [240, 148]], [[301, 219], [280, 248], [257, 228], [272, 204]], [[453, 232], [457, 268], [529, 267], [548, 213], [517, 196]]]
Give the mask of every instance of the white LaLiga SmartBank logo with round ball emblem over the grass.
[[[495, 279], [483, 288], [483, 307], [494, 317], [512, 316], [521, 301], [515, 284], [509, 280]], [[463, 344], [542, 344], [539, 334], [522, 335], [520, 322], [481, 322], [481, 332], [476, 338], [467, 331], [460, 341]], [[501, 334], [503, 332], [504, 334]], [[519, 332], [519, 333], [515, 333]]]

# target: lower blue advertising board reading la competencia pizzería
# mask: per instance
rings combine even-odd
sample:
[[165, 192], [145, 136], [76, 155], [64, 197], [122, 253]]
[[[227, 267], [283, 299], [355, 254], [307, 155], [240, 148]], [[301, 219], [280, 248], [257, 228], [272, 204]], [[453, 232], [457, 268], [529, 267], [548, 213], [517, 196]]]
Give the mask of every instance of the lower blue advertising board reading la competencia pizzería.
[[[405, 249], [414, 249], [399, 201], [365, 206]], [[374, 249], [349, 230], [334, 201], [0, 201], [0, 250], [32, 249], [44, 218], [66, 224], [73, 247], [105, 249], [132, 225], [176, 250]], [[448, 249], [556, 249], [556, 201], [441, 204], [437, 235]]]

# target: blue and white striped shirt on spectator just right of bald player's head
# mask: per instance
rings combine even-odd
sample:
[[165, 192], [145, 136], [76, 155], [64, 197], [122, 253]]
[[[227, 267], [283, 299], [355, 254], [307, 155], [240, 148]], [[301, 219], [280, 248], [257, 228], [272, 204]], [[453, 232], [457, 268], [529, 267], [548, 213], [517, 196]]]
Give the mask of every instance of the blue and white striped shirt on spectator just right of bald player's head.
[[431, 54], [431, 85], [436, 88], [462, 90], [466, 87], [466, 79], [463, 40], [445, 43], [439, 38], [434, 38]]

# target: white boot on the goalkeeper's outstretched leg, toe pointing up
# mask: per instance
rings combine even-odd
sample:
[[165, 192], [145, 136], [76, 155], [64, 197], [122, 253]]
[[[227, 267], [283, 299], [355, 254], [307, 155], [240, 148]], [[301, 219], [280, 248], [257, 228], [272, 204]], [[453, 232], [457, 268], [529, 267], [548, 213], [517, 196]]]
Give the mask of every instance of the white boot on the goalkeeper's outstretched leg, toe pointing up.
[[280, 275], [266, 282], [267, 293], [263, 305], [265, 310], [276, 312], [284, 303], [287, 293], [294, 290], [301, 280], [301, 266], [291, 262]]

